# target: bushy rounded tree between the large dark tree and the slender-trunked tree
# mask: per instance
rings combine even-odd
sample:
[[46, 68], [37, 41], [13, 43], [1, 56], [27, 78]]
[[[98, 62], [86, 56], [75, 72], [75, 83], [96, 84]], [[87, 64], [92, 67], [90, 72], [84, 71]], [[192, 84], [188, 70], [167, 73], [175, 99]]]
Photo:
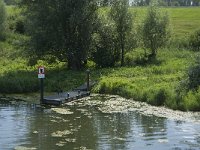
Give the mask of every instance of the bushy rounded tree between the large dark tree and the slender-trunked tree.
[[112, 21], [107, 15], [102, 15], [98, 28], [93, 35], [93, 61], [99, 67], [113, 67], [119, 61], [120, 49]]

